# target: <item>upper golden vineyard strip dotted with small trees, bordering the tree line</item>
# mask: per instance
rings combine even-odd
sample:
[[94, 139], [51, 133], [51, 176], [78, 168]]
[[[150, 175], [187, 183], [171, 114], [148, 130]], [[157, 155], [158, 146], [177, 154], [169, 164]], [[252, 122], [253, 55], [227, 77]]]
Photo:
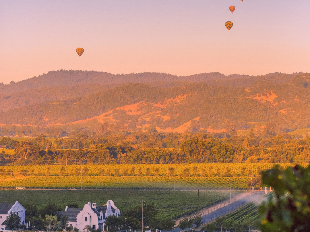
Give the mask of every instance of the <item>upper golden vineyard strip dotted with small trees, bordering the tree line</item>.
[[[272, 168], [269, 163], [188, 163], [188, 164], [83, 164], [83, 176], [258, 176]], [[280, 168], [293, 166], [281, 163]], [[0, 179], [7, 176], [81, 176], [81, 164], [0, 166]]]

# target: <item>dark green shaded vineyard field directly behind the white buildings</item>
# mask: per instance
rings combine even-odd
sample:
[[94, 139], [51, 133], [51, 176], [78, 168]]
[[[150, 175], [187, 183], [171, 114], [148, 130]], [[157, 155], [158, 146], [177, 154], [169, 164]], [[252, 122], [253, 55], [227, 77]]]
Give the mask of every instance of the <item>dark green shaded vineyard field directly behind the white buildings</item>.
[[[232, 195], [238, 192], [233, 191]], [[122, 212], [139, 206], [141, 199], [154, 203], [163, 216], [180, 216], [197, 211], [197, 191], [142, 190], [0, 190], [0, 203], [18, 201], [22, 205], [35, 204], [41, 209], [55, 203], [62, 210], [68, 204], [83, 207], [88, 201], [104, 205], [109, 199]], [[229, 198], [229, 191], [199, 191], [199, 205], [207, 207]]]

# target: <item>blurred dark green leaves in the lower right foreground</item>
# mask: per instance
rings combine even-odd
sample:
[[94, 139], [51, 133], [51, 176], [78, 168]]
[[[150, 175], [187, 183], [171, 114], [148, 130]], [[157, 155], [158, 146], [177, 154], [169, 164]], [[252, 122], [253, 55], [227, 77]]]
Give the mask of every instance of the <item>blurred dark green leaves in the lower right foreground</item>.
[[262, 231], [309, 231], [310, 166], [299, 165], [263, 172], [263, 183], [273, 188], [261, 206]]

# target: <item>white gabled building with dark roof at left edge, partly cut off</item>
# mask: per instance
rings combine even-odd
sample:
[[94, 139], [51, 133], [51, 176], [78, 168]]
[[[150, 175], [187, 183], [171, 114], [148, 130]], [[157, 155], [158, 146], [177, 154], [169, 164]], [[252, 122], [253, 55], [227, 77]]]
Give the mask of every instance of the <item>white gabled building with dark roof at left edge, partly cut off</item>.
[[18, 214], [20, 217], [20, 224], [25, 224], [26, 209], [18, 201], [15, 203], [0, 203], [0, 230], [6, 230], [2, 222], [7, 219], [7, 216], [9, 216], [11, 212]]

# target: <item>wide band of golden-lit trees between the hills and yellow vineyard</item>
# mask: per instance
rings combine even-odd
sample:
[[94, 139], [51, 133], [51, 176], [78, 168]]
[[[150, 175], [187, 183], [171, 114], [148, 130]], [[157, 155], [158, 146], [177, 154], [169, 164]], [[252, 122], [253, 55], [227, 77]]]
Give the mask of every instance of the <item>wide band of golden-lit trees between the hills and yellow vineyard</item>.
[[2, 164], [88, 163], [306, 163], [310, 162], [310, 138], [268, 134], [178, 134], [149, 131], [122, 132], [110, 136], [78, 133], [73, 139], [44, 135], [25, 141], [4, 137], [0, 144], [15, 149], [0, 153]]

